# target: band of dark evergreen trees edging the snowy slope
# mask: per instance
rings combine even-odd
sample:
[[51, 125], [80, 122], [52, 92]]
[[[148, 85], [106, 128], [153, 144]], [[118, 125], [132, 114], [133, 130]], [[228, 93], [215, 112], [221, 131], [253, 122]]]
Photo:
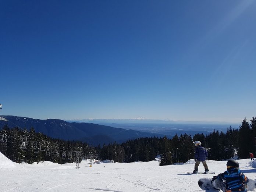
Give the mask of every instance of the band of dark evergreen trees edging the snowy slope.
[[[64, 141], [53, 139], [42, 133], [30, 130], [9, 128], [0, 131], [0, 151], [14, 162], [33, 163], [52, 161], [54, 163], [80, 162], [85, 154], [97, 154], [98, 159], [110, 159], [115, 162], [130, 163], [134, 161], [151, 161], [159, 156], [160, 166], [194, 159], [193, 141], [200, 141], [208, 151], [208, 159], [225, 160], [234, 156], [249, 158], [249, 152], [255, 152], [256, 117], [250, 123], [243, 119], [239, 129], [227, 128], [227, 132], [213, 130], [205, 135], [198, 133], [177, 134], [173, 138], [151, 137], [131, 139], [123, 143], [109, 143], [103, 146], [90, 146], [81, 141]], [[21, 149], [22, 138], [26, 138], [26, 149]], [[23, 141], [24, 142], [24, 141]], [[23, 143], [24, 144], [24, 143]], [[79, 157], [77, 159], [77, 153]]]

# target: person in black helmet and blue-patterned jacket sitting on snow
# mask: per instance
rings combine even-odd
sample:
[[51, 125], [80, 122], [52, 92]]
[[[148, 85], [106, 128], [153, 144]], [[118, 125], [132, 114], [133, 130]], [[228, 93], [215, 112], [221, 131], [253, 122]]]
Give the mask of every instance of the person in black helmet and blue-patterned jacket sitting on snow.
[[217, 176], [218, 179], [222, 179], [225, 182], [225, 191], [241, 191], [247, 192], [248, 178], [240, 171], [239, 163], [234, 160], [228, 160], [227, 171], [220, 173]]

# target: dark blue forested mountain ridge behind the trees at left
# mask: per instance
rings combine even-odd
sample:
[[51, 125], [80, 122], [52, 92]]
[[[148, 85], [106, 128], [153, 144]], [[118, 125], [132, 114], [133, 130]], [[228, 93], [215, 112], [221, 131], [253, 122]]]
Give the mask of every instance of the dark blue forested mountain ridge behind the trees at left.
[[[20, 127], [22, 129], [31, 129], [41, 132], [52, 138], [64, 140], [78, 140], [87, 142], [91, 145], [106, 145], [114, 141], [121, 143], [129, 139], [140, 137], [163, 137], [163, 134], [153, 134], [132, 129], [126, 130], [106, 125], [99, 125], [85, 122], [67, 122], [58, 119], [39, 120], [28, 117], [17, 117], [12, 115], [1, 115], [8, 121], [4, 122], [8, 127]], [[3, 122], [2, 122], [3, 123]]]

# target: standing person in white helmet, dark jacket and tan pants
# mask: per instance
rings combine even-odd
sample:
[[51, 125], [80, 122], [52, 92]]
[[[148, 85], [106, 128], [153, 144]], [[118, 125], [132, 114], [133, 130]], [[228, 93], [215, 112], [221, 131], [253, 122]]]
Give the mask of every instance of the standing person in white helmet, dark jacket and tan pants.
[[203, 166], [205, 167], [205, 173], [209, 173], [209, 169], [208, 166], [206, 164], [206, 157], [208, 156], [207, 151], [205, 150], [205, 147], [201, 146], [201, 142], [200, 141], [195, 141], [194, 142], [195, 146], [196, 146], [196, 150], [195, 150], [195, 170], [193, 171], [193, 173], [197, 174], [198, 173], [198, 166], [199, 164], [202, 162]]

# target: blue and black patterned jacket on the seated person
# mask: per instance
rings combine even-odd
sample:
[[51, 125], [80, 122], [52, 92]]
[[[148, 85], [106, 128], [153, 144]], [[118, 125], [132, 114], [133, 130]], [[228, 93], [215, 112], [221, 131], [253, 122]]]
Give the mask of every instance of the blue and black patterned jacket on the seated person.
[[226, 191], [247, 191], [245, 184], [248, 182], [248, 178], [239, 168], [228, 168], [224, 173], [218, 174], [218, 178], [225, 180]]

